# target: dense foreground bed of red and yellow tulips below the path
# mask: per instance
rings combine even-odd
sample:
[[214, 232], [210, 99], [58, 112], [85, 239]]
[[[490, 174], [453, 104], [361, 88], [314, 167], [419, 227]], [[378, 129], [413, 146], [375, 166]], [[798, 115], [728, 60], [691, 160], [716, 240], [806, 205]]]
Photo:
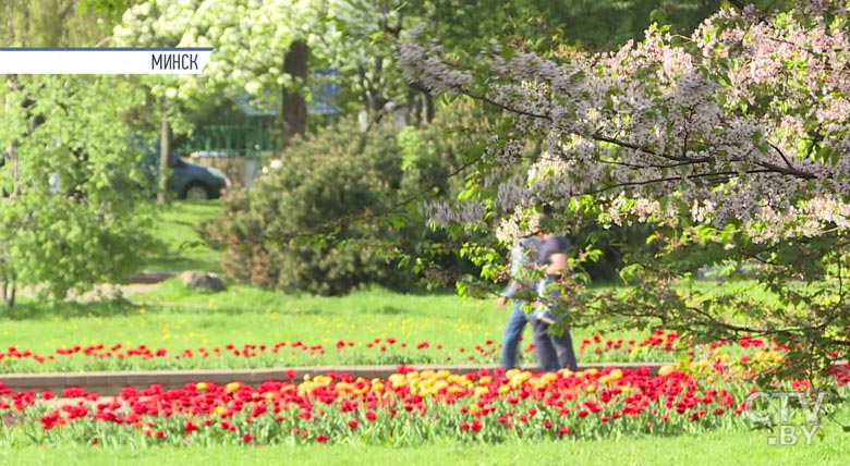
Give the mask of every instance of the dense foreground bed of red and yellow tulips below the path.
[[[386, 379], [327, 373], [251, 387], [198, 381], [126, 388], [100, 398], [78, 388], [11, 393], [0, 384], [0, 444], [121, 445], [356, 442], [417, 444], [440, 438], [599, 439], [748, 426], [751, 385], [664, 366], [534, 373], [451, 373], [401, 366]], [[837, 390], [847, 390], [847, 377]], [[804, 387], [798, 384], [798, 389]]]

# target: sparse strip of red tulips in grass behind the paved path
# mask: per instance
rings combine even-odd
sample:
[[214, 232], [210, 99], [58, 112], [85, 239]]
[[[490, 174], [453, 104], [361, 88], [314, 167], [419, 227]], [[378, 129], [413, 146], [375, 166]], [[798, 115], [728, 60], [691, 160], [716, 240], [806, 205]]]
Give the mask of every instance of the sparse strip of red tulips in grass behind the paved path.
[[[0, 352], [0, 373], [75, 372], [99, 370], [157, 369], [238, 369], [303, 366], [493, 364], [498, 360], [499, 343], [486, 340], [472, 347], [437, 342], [405, 342], [376, 338], [365, 343], [337, 341], [332, 345], [313, 342], [230, 343], [223, 346], [173, 350], [145, 344], [127, 346], [117, 342], [73, 345], [51, 354], [8, 347]], [[605, 339], [599, 334], [584, 339], [576, 347], [579, 360], [595, 363], [669, 363], [672, 360], [707, 364], [753, 364], [765, 358], [779, 359], [787, 351], [775, 342], [742, 339], [693, 346], [675, 332], [657, 330], [644, 339]], [[533, 361], [534, 344], [522, 348], [523, 359]]]

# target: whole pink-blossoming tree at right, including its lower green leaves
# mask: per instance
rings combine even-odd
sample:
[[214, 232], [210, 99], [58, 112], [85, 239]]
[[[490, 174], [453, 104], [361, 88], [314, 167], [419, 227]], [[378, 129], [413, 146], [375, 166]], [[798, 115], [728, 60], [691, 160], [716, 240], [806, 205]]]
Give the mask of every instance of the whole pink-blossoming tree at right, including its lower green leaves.
[[[505, 241], [541, 205], [573, 223], [651, 222], [647, 245], [624, 252], [634, 286], [575, 284], [566, 324], [617, 315], [694, 338], [770, 335], [796, 343], [789, 369], [814, 377], [846, 357], [850, 328], [846, 7], [727, 9], [690, 37], [653, 28], [620, 50], [561, 61], [497, 42], [450, 59], [413, 38], [399, 57], [409, 79], [508, 116], [487, 136], [466, 198], [426, 210], [441, 225], [501, 219]], [[531, 143], [542, 150], [527, 160]], [[742, 265], [764, 299], [682, 280]]]

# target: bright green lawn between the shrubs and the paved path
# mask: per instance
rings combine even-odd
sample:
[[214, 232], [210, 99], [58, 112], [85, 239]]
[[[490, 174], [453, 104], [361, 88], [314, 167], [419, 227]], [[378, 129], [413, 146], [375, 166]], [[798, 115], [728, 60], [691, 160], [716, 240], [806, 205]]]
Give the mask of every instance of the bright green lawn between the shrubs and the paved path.
[[[144, 304], [89, 303], [68, 305], [61, 312], [37, 303], [22, 303], [3, 319], [0, 353], [9, 345], [41, 356], [60, 347], [121, 343], [125, 348], [144, 344], [165, 348], [167, 358], [83, 357], [38, 364], [33, 359], [4, 358], [0, 372], [290, 367], [364, 364], [495, 364], [508, 309], [497, 310], [493, 301], [462, 299], [457, 295], [400, 295], [368, 290], [343, 297], [288, 296], [252, 287], [231, 286], [217, 294], [189, 292], [179, 279], [134, 299]], [[579, 342], [591, 330], [574, 332]], [[643, 339], [642, 332], [621, 336]], [[381, 342], [374, 344], [376, 339]], [[396, 343], [388, 343], [394, 339]], [[324, 354], [292, 347], [293, 342], [321, 345]], [[337, 351], [337, 343], [353, 343]], [[526, 329], [523, 348], [531, 343]], [[175, 358], [184, 350], [232, 344], [288, 342], [283, 351], [259, 357], [229, 355], [223, 358]], [[428, 343], [428, 348], [417, 345]], [[401, 348], [405, 343], [406, 348]], [[380, 346], [387, 351], [380, 351]], [[440, 347], [441, 345], [441, 347]], [[231, 352], [224, 352], [230, 354]], [[524, 353], [533, 360], [533, 352]], [[624, 360], [624, 352], [608, 360]], [[656, 354], [660, 360], [668, 355]], [[60, 363], [62, 360], [63, 363]], [[598, 358], [596, 358], [598, 360]], [[659, 359], [656, 359], [659, 360]], [[584, 358], [583, 361], [588, 361]]]

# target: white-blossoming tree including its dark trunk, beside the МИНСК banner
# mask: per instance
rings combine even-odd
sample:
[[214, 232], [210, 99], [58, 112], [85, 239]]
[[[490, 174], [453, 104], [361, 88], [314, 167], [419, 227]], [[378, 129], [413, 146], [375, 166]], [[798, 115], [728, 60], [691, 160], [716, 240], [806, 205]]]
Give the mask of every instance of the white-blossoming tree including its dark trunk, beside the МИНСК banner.
[[[201, 76], [157, 77], [155, 91], [190, 101], [247, 91], [259, 107], [282, 96], [284, 140], [304, 133], [311, 56], [333, 37], [324, 0], [151, 0], [131, 8], [114, 29], [120, 46], [214, 47]], [[279, 90], [276, 90], [279, 89]]]

